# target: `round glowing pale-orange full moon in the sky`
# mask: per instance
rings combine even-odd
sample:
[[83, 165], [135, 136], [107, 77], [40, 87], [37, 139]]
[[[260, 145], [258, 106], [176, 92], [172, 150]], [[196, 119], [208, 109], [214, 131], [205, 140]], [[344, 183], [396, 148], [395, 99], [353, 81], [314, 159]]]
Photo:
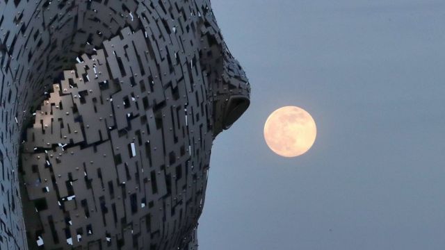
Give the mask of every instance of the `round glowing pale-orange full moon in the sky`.
[[264, 139], [268, 147], [289, 158], [306, 153], [314, 144], [316, 134], [312, 116], [295, 106], [275, 110], [264, 125]]

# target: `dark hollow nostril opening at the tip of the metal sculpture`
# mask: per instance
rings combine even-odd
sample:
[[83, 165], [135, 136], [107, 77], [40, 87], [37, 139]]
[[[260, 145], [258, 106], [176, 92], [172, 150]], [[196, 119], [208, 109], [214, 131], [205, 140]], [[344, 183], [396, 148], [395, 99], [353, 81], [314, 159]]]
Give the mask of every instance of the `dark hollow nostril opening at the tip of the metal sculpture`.
[[229, 98], [223, 117], [223, 128], [228, 129], [249, 108], [250, 99], [238, 95]]

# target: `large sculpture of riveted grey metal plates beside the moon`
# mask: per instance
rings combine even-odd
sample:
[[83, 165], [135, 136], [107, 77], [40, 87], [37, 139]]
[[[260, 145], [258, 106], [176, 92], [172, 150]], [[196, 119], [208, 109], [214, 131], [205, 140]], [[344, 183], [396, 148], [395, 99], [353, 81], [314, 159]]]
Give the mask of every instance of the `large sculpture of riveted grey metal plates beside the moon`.
[[209, 0], [1, 0], [0, 81], [0, 249], [197, 248], [250, 94]]

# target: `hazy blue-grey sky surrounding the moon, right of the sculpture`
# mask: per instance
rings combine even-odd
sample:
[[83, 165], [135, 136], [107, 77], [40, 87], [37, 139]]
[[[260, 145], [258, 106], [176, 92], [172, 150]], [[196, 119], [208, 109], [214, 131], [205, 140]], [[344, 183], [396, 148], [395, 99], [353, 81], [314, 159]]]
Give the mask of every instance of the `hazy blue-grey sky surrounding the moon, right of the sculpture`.
[[[213, 0], [252, 85], [213, 145], [200, 249], [444, 249], [445, 1]], [[282, 106], [314, 147], [268, 149]]]

